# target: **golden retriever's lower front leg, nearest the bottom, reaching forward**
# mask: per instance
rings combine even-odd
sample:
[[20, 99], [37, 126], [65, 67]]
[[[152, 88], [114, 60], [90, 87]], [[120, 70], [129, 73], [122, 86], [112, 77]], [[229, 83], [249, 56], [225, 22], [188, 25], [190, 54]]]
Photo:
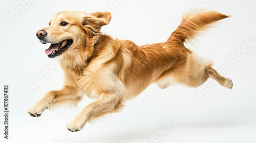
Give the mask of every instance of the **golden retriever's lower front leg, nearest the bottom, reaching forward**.
[[71, 132], [80, 131], [93, 118], [107, 113], [117, 112], [121, 107], [120, 97], [109, 93], [101, 94], [97, 101], [87, 105], [76, 115], [74, 120], [67, 125], [67, 129]]

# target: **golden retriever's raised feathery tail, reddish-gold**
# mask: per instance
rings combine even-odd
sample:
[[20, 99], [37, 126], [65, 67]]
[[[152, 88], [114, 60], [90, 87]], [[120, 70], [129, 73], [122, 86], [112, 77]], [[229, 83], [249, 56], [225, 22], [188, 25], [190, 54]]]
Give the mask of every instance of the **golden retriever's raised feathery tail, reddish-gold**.
[[227, 18], [229, 16], [216, 11], [193, 11], [190, 10], [182, 17], [179, 27], [168, 38], [167, 42], [178, 42], [183, 44], [199, 34], [200, 31], [211, 27], [212, 23]]

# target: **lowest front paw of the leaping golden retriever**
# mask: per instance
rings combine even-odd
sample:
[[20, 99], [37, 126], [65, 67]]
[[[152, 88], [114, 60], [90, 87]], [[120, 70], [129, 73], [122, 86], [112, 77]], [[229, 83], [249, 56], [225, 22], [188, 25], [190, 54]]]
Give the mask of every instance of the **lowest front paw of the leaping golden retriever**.
[[78, 132], [84, 127], [84, 125], [86, 125], [86, 121], [76, 117], [67, 125], [67, 129], [71, 132]]

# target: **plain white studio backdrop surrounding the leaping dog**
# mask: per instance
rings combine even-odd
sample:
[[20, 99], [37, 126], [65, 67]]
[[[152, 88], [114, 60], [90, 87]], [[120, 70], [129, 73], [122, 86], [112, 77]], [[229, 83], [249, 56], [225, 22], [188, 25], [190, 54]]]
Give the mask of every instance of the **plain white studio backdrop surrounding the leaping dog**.
[[[9, 85], [9, 134], [0, 142], [256, 142], [256, 2], [212, 0], [168, 1], [3, 1], [0, 46], [0, 129], [4, 133], [4, 85]], [[62, 86], [58, 59], [45, 54], [36, 31], [59, 11], [110, 11], [102, 32], [139, 45], [165, 41], [191, 8], [232, 15], [198, 37], [202, 57], [233, 81], [233, 90], [208, 80], [199, 88], [149, 86], [140, 96], [80, 132], [66, 125], [93, 100], [84, 97], [77, 109], [46, 110], [38, 118], [27, 110], [49, 90]]]

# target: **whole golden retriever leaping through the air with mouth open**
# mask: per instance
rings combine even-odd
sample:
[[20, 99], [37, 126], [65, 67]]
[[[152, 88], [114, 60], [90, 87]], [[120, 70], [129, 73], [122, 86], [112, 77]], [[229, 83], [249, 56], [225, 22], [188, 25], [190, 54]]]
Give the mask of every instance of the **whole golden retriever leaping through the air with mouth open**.
[[48, 57], [61, 56], [65, 83], [61, 89], [49, 91], [28, 113], [38, 117], [57, 105], [76, 106], [86, 94], [96, 101], [67, 125], [69, 131], [76, 132], [96, 117], [120, 111], [125, 101], [152, 83], [162, 89], [173, 84], [198, 87], [212, 78], [232, 89], [230, 79], [219, 75], [211, 62], [184, 46], [199, 31], [227, 17], [215, 11], [190, 11], [166, 42], [139, 46], [100, 32], [102, 26], [109, 24], [110, 12], [56, 13], [49, 26], [36, 32], [36, 36], [41, 43], [51, 44], [45, 50]]

